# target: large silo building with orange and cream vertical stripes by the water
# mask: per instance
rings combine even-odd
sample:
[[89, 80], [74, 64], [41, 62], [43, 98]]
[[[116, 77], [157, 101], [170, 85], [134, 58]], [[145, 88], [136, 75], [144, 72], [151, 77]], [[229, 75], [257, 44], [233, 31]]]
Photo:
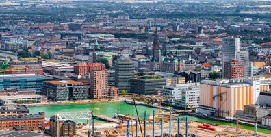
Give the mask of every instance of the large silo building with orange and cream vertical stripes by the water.
[[258, 79], [203, 80], [200, 84], [198, 112], [214, 116], [235, 116], [244, 105], [257, 103], [260, 92]]

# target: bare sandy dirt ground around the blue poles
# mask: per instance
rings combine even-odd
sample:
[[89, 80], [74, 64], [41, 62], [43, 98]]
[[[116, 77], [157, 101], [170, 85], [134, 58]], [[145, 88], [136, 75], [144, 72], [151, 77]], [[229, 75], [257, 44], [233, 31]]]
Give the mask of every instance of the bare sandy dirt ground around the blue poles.
[[[96, 136], [108, 136], [108, 137], [116, 137], [116, 136], [126, 136], [126, 126], [116, 129], [115, 123], [96, 123], [95, 125], [95, 134]], [[239, 129], [236, 132], [236, 129], [233, 127], [229, 127], [227, 125], [211, 125], [211, 127], [216, 128], [216, 131], [210, 131], [207, 129], [198, 128], [198, 125], [202, 125], [202, 123], [198, 123], [196, 121], [188, 121], [188, 135], [194, 134], [199, 137], [207, 137], [207, 136], [253, 136], [254, 132], [247, 129]], [[144, 130], [143, 123], [141, 124], [142, 130]], [[87, 136], [88, 126], [84, 126], [81, 129], [77, 129], [77, 136]], [[168, 121], [164, 122], [163, 125], [164, 136], [167, 136], [169, 133], [169, 123]], [[161, 127], [160, 122], [155, 123], [155, 136], [160, 136]], [[180, 133], [185, 135], [185, 121], [181, 121], [180, 124]], [[109, 136], [110, 134], [110, 136]], [[177, 134], [177, 121], [172, 121], [172, 136]], [[152, 136], [152, 123], [148, 123], [146, 126], [146, 135]], [[130, 136], [135, 136], [135, 125], [134, 123], [130, 128]], [[140, 126], [138, 125], [138, 136], [141, 136]], [[258, 132], [257, 136], [263, 137], [271, 137], [271, 134], [263, 134]]]

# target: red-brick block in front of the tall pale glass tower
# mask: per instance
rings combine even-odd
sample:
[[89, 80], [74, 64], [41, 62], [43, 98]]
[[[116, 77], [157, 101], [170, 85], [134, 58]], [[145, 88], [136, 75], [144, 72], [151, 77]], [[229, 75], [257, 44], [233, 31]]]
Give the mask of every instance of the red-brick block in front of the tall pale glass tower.
[[240, 79], [244, 77], [244, 65], [238, 60], [224, 63], [224, 77], [226, 79]]

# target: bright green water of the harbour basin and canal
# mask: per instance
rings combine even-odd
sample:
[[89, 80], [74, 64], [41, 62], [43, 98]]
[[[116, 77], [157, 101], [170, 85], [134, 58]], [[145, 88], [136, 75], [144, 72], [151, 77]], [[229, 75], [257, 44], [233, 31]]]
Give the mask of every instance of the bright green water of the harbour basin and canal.
[[[136, 117], [135, 107], [133, 105], [129, 105], [124, 102], [114, 102], [114, 103], [91, 103], [91, 104], [77, 104], [77, 105], [42, 105], [42, 106], [29, 106], [29, 112], [38, 113], [45, 112], [45, 116], [49, 118], [53, 116], [53, 114], [57, 112], [77, 112], [77, 111], [93, 111], [94, 114], [97, 115], [106, 115], [112, 117], [115, 113], [120, 114], [130, 114], [133, 117]], [[146, 114], [151, 114], [153, 110], [155, 112], [159, 112], [159, 110], [155, 108], [148, 108], [146, 106], [137, 105], [138, 115], [140, 119], [144, 118], [144, 111]], [[217, 123], [220, 125], [229, 125], [231, 127], [235, 127], [234, 123], [220, 122], [220, 121], [212, 121], [207, 119], [200, 119], [194, 116], [188, 116], [188, 120], [201, 121], [205, 123]], [[80, 121], [81, 122], [81, 121]], [[240, 125], [242, 129], [250, 129], [253, 130], [254, 127], [247, 125]], [[267, 134], [271, 134], [271, 130], [269, 129], [261, 129], [258, 128], [258, 132], [263, 132]]]

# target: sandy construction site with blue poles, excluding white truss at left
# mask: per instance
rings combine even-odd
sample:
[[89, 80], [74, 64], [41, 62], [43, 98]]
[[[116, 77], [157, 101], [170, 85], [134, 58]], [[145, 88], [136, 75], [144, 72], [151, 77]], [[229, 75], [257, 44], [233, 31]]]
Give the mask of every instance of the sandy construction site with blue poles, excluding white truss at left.
[[[160, 115], [160, 114], [158, 114]], [[135, 118], [122, 119], [120, 123], [94, 123], [92, 136], [270, 136], [247, 129], [238, 129], [227, 125], [215, 125], [211, 123], [201, 123], [189, 121], [186, 116], [165, 113], [155, 119], [142, 119], [140, 122]], [[170, 118], [170, 115], [172, 116]], [[161, 118], [163, 116], [163, 118]], [[88, 136], [88, 125], [77, 129], [78, 136]]]

